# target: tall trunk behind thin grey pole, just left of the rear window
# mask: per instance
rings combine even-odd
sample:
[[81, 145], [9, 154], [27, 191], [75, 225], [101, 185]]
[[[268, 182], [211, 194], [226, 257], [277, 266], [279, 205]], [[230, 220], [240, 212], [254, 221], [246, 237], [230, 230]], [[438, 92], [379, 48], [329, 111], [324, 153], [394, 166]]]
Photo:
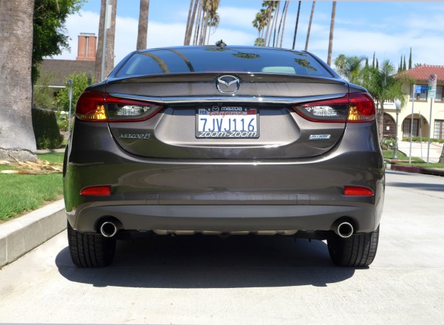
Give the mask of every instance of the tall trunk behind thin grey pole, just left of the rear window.
[[106, 48], [105, 48], [105, 71], [104, 78], [114, 68], [114, 37], [115, 37], [115, 17], [117, 9], [117, 0], [102, 0], [102, 6], [100, 7], [100, 21], [99, 21], [99, 37], [97, 39], [97, 54], [95, 55], [95, 74], [94, 80], [97, 82], [102, 81], [100, 76], [102, 70], [102, 53], [103, 53], [103, 37], [105, 36], [105, 6], [109, 1], [111, 6], [111, 25], [106, 29]]

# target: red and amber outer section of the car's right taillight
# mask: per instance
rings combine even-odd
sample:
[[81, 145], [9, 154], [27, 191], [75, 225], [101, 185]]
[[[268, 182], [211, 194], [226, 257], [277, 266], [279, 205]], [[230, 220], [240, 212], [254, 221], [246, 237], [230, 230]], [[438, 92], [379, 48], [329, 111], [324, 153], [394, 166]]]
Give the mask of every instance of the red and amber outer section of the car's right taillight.
[[347, 122], [368, 122], [374, 119], [376, 119], [376, 107], [371, 95], [367, 92], [351, 93]]

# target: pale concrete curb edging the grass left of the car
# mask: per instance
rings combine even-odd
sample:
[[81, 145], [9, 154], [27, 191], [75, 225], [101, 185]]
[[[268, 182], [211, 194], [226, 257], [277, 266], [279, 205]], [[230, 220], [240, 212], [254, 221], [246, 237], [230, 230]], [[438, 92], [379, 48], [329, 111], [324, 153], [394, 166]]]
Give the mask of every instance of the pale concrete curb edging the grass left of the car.
[[0, 267], [66, 229], [63, 199], [0, 225]]

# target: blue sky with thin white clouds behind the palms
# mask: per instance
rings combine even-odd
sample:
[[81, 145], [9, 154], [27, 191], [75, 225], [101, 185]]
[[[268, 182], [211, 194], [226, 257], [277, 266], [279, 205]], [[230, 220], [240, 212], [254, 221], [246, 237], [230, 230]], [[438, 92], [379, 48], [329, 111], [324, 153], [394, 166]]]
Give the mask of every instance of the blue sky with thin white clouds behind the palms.
[[[210, 43], [223, 39], [228, 45], [253, 45], [258, 32], [251, 21], [261, 8], [260, 0], [221, 0], [221, 17]], [[298, 1], [290, 1], [282, 47], [291, 48]], [[312, 1], [302, 1], [296, 48], [305, 47]], [[147, 47], [180, 46], [184, 42], [189, 0], [149, 1]], [[308, 50], [327, 60], [332, 1], [316, 1]], [[67, 31], [71, 52], [55, 58], [74, 60], [79, 33], [98, 34], [100, 0], [83, 5], [80, 15], [70, 16]], [[117, 1], [115, 64], [135, 49], [138, 0]], [[376, 52], [398, 67], [401, 55], [413, 52], [413, 64], [444, 65], [443, 1], [338, 1], [334, 27], [333, 58], [339, 54], [364, 55]]]

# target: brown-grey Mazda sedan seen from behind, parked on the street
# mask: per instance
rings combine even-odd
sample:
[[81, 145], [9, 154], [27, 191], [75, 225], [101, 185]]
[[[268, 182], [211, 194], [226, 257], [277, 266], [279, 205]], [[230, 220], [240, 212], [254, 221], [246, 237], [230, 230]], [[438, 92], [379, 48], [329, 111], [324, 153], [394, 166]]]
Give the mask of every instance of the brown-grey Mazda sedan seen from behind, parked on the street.
[[137, 50], [86, 88], [65, 151], [70, 255], [110, 265], [133, 235], [327, 240], [376, 255], [384, 161], [374, 100], [305, 51]]

